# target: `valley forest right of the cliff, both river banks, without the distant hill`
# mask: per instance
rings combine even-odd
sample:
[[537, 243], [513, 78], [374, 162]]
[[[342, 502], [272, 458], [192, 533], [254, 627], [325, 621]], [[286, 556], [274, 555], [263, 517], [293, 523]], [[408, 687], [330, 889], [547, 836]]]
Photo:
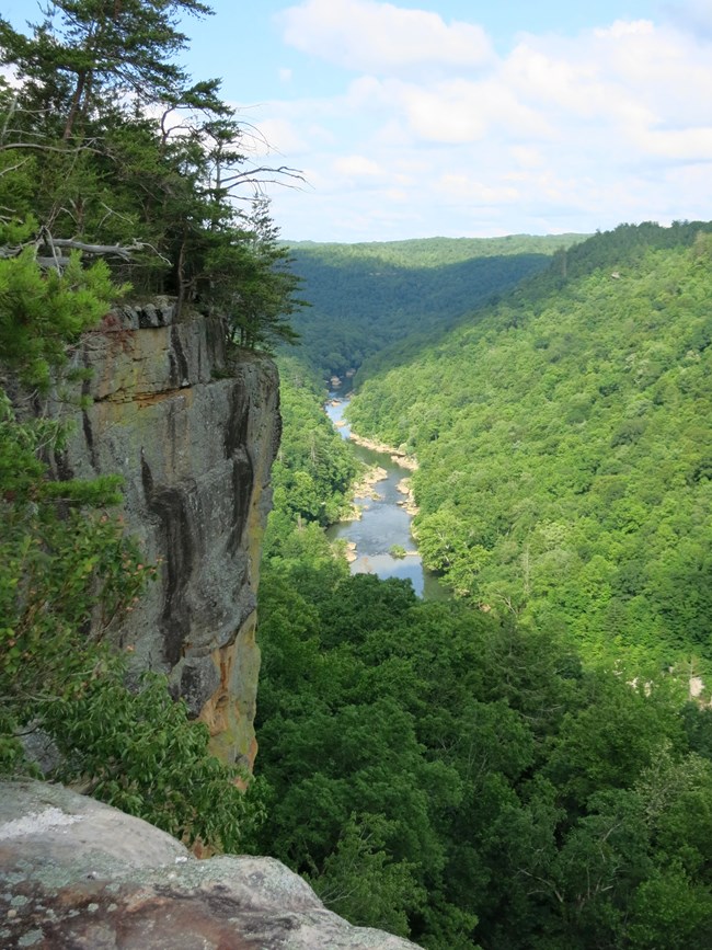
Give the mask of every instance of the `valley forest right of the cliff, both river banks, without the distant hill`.
[[417, 456], [450, 602], [352, 576], [286, 504], [344, 462], [318, 380], [285, 367], [259, 840], [354, 923], [432, 950], [712, 941], [712, 713], [688, 688], [709, 676], [711, 231], [597, 234], [410, 362], [405, 341], [364, 363], [352, 422]]

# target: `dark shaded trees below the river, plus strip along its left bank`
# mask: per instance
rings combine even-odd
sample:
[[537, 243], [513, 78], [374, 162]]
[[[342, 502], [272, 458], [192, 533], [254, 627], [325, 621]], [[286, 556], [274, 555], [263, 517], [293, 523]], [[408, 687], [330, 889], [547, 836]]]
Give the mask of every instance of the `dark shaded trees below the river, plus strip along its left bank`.
[[710, 709], [657, 663], [583, 663], [575, 636], [504, 605], [349, 575], [319, 524], [345, 445], [294, 363], [283, 394], [257, 850], [427, 950], [707, 950]]

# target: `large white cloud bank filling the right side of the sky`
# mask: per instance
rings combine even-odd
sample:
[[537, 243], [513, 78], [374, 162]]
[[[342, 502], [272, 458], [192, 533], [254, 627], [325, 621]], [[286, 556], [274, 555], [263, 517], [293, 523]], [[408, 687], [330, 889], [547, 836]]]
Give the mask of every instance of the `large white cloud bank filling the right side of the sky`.
[[[323, 98], [269, 106], [313, 165], [308, 196], [275, 198], [288, 236], [388, 240], [712, 218], [712, 34], [670, 18], [621, 20], [576, 35], [521, 34], [499, 58], [485, 37], [459, 65], [458, 44], [474, 34], [434, 13], [309, 0], [287, 14], [290, 43], [363, 72]], [[438, 30], [450, 45], [434, 43]], [[448, 68], [430, 68], [433, 57]], [[423, 68], [411, 69], [416, 62]]]

